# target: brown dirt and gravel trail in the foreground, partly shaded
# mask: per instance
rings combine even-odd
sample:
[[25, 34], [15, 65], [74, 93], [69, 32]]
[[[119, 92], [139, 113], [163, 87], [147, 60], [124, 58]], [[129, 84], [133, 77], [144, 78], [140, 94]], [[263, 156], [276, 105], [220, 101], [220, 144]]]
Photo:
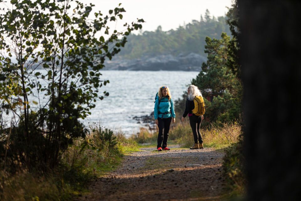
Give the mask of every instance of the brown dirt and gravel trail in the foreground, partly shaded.
[[78, 200], [221, 200], [223, 156], [212, 148], [132, 152]]

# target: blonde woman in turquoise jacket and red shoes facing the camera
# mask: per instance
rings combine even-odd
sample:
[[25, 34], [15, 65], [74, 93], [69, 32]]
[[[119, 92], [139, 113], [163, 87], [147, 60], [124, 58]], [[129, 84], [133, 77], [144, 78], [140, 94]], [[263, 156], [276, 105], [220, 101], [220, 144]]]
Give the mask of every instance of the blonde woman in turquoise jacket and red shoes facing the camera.
[[155, 123], [159, 128], [157, 150], [169, 150], [167, 147], [168, 132], [171, 122], [176, 122], [176, 114], [168, 87], [161, 86], [155, 99]]

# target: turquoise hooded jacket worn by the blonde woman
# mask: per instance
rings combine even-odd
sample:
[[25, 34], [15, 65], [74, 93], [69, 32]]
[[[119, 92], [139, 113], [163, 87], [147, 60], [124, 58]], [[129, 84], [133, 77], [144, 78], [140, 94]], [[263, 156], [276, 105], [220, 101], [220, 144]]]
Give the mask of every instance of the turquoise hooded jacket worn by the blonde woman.
[[[166, 102], [163, 102], [166, 101]], [[169, 114], [158, 114], [158, 112], [161, 113], [165, 113], [165, 112], [171, 112]], [[168, 101], [167, 97], [162, 97], [160, 100], [160, 105], [159, 105], [159, 98], [156, 99], [155, 102], [155, 108], [154, 108], [154, 115], [155, 115], [155, 119], [159, 118], [169, 118], [169, 117], [173, 117], [176, 118], [176, 114], [175, 114], [175, 110], [173, 107], [173, 102], [172, 99], [170, 99], [170, 102]]]

